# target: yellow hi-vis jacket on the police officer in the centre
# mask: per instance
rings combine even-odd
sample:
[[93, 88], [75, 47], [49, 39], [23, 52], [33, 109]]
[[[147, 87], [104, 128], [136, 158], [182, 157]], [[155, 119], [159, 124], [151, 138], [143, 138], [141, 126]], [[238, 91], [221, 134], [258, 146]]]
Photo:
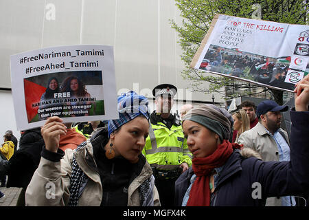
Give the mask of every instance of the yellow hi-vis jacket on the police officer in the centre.
[[162, 122], [151, 124], [146, 145], [142, 151], [151, 167], [161, 170], [176, 170], [182, 163], [192, 165], [192, 153], [180, 126], [168, 129]]

